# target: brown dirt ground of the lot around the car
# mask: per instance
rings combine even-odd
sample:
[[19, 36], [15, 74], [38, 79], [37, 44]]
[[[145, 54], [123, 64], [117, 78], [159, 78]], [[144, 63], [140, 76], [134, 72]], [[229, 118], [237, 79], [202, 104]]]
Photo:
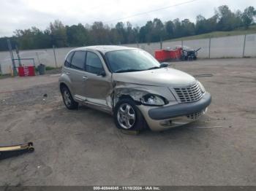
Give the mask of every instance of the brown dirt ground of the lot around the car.
[[67, 110], [58, 74], [1, 79], [0, 145], [33, 141], [35, 152], [1, 160], [0, 185], [256, 185], [256, 58], [173, 67], [214, 75], [198, 78], [212, 95], [208, 114], [138, 136], [108, 114]]

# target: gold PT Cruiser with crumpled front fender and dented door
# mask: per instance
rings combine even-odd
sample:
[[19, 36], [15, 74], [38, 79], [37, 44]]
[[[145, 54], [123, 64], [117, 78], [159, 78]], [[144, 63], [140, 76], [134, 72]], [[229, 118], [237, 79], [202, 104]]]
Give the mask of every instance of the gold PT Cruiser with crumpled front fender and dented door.
[[194, 77], [131, 47], [70, 51], [59, 87], [67, 109], [85, 104], [108, 112], [124, 130], [184, 125], [205, 114], [211, 104], [211, 95]]

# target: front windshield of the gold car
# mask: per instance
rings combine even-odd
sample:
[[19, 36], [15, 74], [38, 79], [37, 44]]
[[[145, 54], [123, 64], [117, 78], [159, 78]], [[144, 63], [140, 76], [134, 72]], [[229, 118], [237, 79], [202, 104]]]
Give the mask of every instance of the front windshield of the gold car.
[[105, 55], [111, 71], [115, 73], [159, 69], [160, 66], [154, 57], [143, 50], [117, 50]]

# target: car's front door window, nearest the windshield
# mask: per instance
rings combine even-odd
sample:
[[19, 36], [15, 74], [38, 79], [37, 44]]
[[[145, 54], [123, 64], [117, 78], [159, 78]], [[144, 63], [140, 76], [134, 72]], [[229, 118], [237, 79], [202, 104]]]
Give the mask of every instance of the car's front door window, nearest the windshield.
[[86, 55], [86, 71], [92, 74], [99, 74], [103, 71], [102, 61], [97, 54], [93, 52], [87, 52]]

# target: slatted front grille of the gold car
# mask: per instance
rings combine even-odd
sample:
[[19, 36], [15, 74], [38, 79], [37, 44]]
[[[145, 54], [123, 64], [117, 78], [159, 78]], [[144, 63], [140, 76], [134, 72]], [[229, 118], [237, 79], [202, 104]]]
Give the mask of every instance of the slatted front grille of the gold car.
[[174, 90], [178, 95], [178, 101], [181, 103], [198, 101], [203, 96], [202, 90], [198, 83], [190, 87], [175, 87]]

